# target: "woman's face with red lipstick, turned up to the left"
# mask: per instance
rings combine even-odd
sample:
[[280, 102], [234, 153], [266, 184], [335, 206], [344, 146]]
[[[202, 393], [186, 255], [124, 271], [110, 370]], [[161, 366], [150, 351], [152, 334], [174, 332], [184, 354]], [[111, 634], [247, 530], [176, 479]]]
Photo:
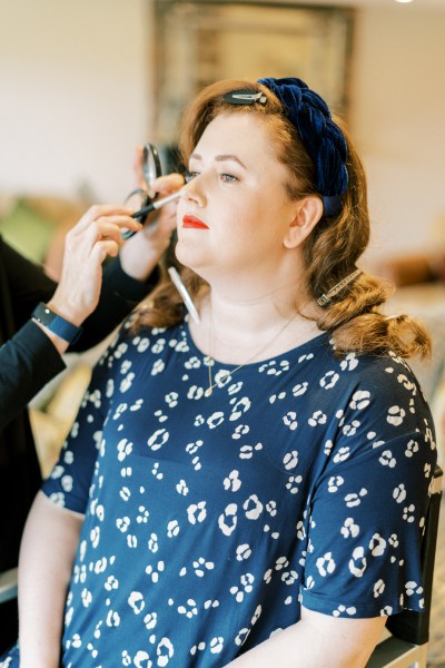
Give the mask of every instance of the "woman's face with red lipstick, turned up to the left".
[[178, 205], [179, 262], [207, 281], [267, 279], [287, 248], [295, 217], [265, 121], [253, 114], [220, 115], [189, 160], [194, 177]]

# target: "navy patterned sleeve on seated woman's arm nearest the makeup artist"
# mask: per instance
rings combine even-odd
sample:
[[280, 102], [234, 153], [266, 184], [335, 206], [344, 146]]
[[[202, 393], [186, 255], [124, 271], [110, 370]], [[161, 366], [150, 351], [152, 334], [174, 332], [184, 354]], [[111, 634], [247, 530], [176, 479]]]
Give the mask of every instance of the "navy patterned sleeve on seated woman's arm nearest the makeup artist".
[[71, 432], [59, 460], [42, 484], [43, 493], [55, 503], [85, 514], [95, 464], [102, 441], [103, 424], [109, 406], [109, 389], [113, 366], [120, 357], [126, 336], [125, 326], [96, 364], [90, 384], [81, 402]]

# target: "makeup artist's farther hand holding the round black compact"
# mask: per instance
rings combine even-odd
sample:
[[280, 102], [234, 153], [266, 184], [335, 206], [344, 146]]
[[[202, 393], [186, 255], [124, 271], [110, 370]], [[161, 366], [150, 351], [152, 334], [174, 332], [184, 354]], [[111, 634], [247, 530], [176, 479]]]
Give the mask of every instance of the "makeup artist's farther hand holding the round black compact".
[[[138, 183], [140, 185], [140, 181]], [[157, 178], [152, 186], [158, 197], [166, 197], [184, 186], [180, 174], [168, 174]], [[152, 212], [138, 234], [126, 240], [119, 257], [122, 269], [138, 281], [145, 281], [159, 263], [176, 229], [178, 202], [170, 202], [158, 212]]]

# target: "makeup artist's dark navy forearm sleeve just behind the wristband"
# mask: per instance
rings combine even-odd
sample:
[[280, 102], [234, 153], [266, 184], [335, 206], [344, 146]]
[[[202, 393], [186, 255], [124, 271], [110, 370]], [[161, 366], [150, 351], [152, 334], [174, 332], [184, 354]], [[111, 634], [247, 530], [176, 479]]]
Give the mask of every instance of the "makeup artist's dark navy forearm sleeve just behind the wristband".
[[65, 363], [50, 338], [29, 321], [0, 347], [0, 430], [3, 429]]

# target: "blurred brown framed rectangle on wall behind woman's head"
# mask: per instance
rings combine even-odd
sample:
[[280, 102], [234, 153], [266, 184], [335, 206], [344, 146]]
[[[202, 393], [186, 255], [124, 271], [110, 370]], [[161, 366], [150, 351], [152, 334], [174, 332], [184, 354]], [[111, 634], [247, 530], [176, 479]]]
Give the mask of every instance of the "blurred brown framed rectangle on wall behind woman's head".
[[347, 114], [354, 10], [247, 0], [155, 0], [155, 140], [218, 79], [299, 77]]

